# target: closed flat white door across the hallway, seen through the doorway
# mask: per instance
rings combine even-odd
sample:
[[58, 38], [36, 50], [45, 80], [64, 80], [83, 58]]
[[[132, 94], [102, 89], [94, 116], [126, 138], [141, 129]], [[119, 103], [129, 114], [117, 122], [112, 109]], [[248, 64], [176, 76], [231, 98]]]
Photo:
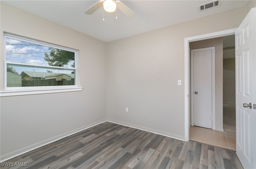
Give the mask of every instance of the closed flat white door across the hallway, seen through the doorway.
[[[212, 53], [214, 47], [191, 50], [192, 120], [212, 128]], [[193, 116], [194, 115], [194, 116]]]

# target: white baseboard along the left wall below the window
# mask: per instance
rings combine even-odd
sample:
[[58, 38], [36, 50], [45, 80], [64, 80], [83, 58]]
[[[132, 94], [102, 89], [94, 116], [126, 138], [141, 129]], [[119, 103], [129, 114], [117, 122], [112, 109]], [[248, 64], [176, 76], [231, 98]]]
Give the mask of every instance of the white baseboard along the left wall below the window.
[[42, 146], [44, 146], [44, 145], [46, 145], [46, 144], [49, 144], [49, 143], [52, 143], [52, 142], [54, 142], [54, 141], [60, 140], [60, 139], [62, 139], [62, 138], [65, 138], [65, 137], [67, 137], [67, 136], [70, 136], [70, 135], [72, 135], [72, 134], [76, 134], [76, 133], [78, 133], [78, 132], [81, 132], [81, 131], [83, 131], [83, 130], [85, 130], [85, 129], [87, 129], [87, 128], [91, 128], [91, 127], [96, 126], [96, 125], [98, 125], [98, 124], [101, 124], [101, 123], [103, 123], [103, 122], [106, 122], [106, 119], [99, 120], [98, 122], [94, 122], [94, 123], [88, 124], [88, 125], [86, 125], [86, 126], [83, 126], [83, 127], [81, 127], [81, 128], [77, 128], [77, 129], [72, 130], [72, 131], [70, 131], [70, 132], [66, 132], [66, 133], [64, 133], [64, 134], [60, 134], [60, 135], [55, 136], [55, 137], [53, 137], [53, 138], [50, 138], [50, 139], [47, 139], [47, 140], [44, 140], [44, 141], [40, 141], [40, 142], [35, 143], [35, 144], [33, 144], [33, 145], [29, 145], [28, 147], [24, 147], [24, 148], [18, 149], [18, 150], [16, 150], [16, 151], [10, 152], [10, 153], [8, 153], [8, 154], [1, 155], [1, 156], [0, 156], [0, 159], [1, 159], [0, 162], [6, 161], [6, 160], [11, 159], [11, 158], [14, 158], [14, 157], [16, 157], [16, 156], [18, 156], [18, 155], [24, 154], [24, 153], [26, 153], [26, 152], [28, 152], [28, 151], [32, 151], [32, 150], [34, 150], [34, 149], [37, 149], [37, 148], [39, 148], [39, 147], [42, 147]]

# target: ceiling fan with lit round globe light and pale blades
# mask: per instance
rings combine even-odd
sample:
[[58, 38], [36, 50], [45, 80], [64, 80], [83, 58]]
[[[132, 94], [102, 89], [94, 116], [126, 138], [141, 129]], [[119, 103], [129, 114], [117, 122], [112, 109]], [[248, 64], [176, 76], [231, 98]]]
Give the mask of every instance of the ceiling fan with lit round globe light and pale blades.
[[135, 16], [135, 13], [130, 8], [128, 8], [125, 4], [120, 2], [120, 0], [100, 0], [96, 4], [91, 6], [88, 10], [86, 10], [84, 13], [91, 15], [96, 10], [98, 10], [102, 5], [106, 12], [112, 13], [116, 11], [116, 8], [118, 8], [121, 12], [123, 12], [129, 18]]

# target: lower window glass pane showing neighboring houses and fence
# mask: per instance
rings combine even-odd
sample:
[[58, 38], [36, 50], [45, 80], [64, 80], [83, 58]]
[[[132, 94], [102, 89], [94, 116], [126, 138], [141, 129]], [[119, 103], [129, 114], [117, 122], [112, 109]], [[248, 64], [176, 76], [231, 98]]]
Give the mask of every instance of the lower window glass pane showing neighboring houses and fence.
[[7, 63], [7, 87], [76, 85], [76, 69]]

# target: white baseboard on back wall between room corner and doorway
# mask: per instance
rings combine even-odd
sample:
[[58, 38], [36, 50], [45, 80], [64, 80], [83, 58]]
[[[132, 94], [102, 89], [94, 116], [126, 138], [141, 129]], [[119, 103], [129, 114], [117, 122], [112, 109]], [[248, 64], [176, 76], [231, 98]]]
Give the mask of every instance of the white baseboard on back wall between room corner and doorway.
[[178, 135], [175, 135], [175, 134], [171, 134], [171, 133], [167, 133], [167, 132], [162, 132], [162, 131], [159, 131], [159, 130], [154, 130], [154, 129], [151, 129], [151, 128], [146, 128], [146, 127], [143, 127], [143, 126], [138, 126], [138, 125], [130, 124], [130, 123], [126, 123], [126, 122], [120, 122], [120, 121], [112, 120], [112, 119], [109, 119], [109, 118], [107, 118], [107, 121], [115, 123], [115, 124], [120, 124], [120, 125], [123, 125], [123, 126], [131, 127], [131, 128], [136, 128], [136, 129], [139, 129], [139, 130], [144, 130], [146, 132], [151, 132], [151, 133], [155, 133], [155, 134], [159, 134], [159, 135], [162, 135], [162, 136], [166, 136], [166, 137], [170, 137], [170, 138], [175, 138], [175, 139], [184, 141], [184, 137], [178, 136]]

